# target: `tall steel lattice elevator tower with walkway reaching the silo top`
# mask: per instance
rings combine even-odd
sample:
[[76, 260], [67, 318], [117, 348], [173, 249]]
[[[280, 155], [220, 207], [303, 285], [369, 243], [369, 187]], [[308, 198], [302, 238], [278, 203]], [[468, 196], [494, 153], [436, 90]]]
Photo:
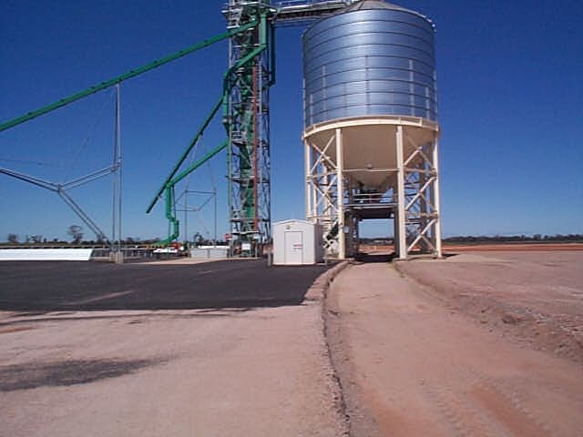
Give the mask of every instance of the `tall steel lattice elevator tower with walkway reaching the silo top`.
[[[229, 136], [228, 179], [231, 251], [258, 255], [271, 240], [270, 87], [275, 84], [274, 28], [304, 25], [352, 3], [230, 0], [228, 30], [259, 22], [230, 36], [229, 89], [223, 122]], [[251, 60], [250, 60], [251, 58]], [[239, 66], [234, 68], [233, 66]]]

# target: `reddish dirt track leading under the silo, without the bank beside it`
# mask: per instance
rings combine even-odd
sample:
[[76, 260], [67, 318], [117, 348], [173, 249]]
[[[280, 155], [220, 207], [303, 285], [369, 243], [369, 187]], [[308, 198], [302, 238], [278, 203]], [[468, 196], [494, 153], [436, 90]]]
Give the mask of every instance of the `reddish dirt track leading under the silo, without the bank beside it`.
[[582, 435], [577, 362], [506, 339], [392, 265], [343, 270], [327, 326], [355, 437]]

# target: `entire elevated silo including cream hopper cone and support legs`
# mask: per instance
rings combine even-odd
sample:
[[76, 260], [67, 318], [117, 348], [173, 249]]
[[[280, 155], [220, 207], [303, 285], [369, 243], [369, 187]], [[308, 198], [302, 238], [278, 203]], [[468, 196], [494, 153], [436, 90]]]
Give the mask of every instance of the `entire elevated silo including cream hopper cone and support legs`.
[[401, 258], [440, 255], [434, 34], [424, 15], [362, 0], [303, 35], [307, 218], [340, 258], [358, 222], [381, 217]]

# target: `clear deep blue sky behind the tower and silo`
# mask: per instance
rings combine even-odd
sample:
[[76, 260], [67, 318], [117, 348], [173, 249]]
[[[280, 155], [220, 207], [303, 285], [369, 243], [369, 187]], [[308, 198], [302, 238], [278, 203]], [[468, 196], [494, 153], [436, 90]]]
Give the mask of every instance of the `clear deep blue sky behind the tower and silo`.
[[[52, 103], [224, 31], [222, 1], [0, 3], [0, 120]], [[443, 231], [451, 235], [583, 232], [583, 4], [579, 1], [404, 1], [437, 26]], [[277, 35], [271, 92], [273, 220], [304, 216], [299, 28]], [[220, 95], [227, 44], [121, 87], [124, 236], [164, 237], [149, 200]], [[113, 98], [106, 91], [0, 133], [0, 166], [63, 181], [107, 165]], [[224, 137], [215, 123], [197, 156]], [[18, 162], [32, 161], [32, 162]], [[226, 158], [191, 189], [219, 190], [228, 230]], [[42, 163], [40, 165], [38, 163]], [[72, 192], [110, 232], [109, 179]], [[0, 175], [0, 240], [9, 232], [66, 238], [79, 220], [55, 195]], [[190, 198], [198, 204], [201, 198]], [[212, 233], [212, 208], [189, 235]], [[205, 230], [206, 229], [206, 230]], [[209, 233], [207, 233], [209, 232]], [[378, 224], [364, 235], [385, 235]], [[87, 238], [93, 238], [87, 232]]]

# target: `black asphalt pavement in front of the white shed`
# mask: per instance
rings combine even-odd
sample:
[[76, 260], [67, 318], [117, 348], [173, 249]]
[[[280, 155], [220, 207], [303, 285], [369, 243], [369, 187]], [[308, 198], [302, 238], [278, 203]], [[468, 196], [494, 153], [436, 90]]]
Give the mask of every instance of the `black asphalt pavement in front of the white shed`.
[[220, 310], [300, 305], [330, 266], [261, 259], [190, 265], [0, 262], [0, 310]]

